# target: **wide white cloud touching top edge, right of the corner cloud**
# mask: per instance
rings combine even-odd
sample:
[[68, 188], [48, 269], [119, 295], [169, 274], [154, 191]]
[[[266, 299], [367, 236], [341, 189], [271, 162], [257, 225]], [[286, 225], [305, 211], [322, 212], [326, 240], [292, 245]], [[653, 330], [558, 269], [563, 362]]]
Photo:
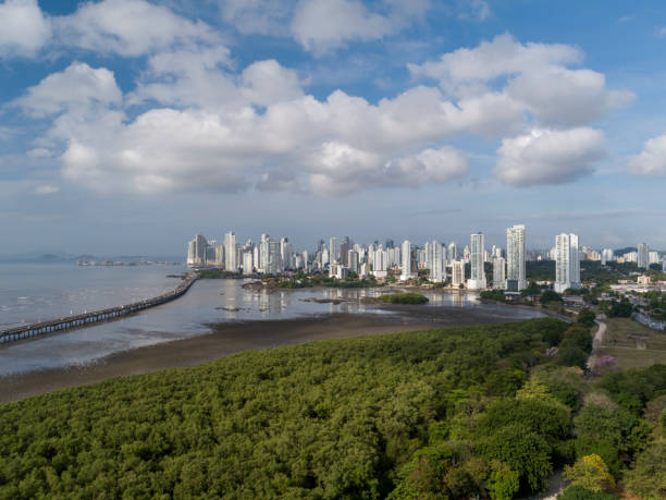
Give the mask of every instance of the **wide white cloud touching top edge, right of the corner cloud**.
[[145, 0], [86, 2], [71, 15], [53, 17], [53, 23], [65, 46], [125, 57], [221, 41], [206, 23]]

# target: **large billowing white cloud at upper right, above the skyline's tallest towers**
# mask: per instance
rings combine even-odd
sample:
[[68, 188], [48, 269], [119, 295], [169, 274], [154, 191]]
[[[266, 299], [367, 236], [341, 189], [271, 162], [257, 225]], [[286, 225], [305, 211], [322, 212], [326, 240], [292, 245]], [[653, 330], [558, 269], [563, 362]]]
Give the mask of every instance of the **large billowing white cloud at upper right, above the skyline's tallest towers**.
[[533, 114], [541, 126], [579, 126], [625, 106], [633, 94], [607, 90], [603, 74], [570, 69], [582, 52], [559, 44], [520, 44], [508, 34], [437, 61], [409, 64], [415, 77], [439, 81], [452, 96], [482, 95], [498, 87]]

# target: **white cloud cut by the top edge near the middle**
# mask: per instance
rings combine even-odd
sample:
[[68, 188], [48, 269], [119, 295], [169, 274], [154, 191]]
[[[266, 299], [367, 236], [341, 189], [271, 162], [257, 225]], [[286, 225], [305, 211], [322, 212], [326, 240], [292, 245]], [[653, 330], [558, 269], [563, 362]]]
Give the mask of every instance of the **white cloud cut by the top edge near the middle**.
[[385, 13], [370, 11], [360, 0], [300, 0], [292, 20], [294, 39], [317, 54], [347, 41], [381, 39], [421, 17], [427, 0], [386, 0]]

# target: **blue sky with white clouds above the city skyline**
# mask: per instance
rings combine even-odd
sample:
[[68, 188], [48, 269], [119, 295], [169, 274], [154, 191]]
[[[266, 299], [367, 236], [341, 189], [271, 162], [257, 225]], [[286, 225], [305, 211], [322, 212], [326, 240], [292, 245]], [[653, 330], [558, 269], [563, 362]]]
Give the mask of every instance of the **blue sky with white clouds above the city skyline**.
[[666, 249], [662, 1], [0, 0], [0, 255]]

